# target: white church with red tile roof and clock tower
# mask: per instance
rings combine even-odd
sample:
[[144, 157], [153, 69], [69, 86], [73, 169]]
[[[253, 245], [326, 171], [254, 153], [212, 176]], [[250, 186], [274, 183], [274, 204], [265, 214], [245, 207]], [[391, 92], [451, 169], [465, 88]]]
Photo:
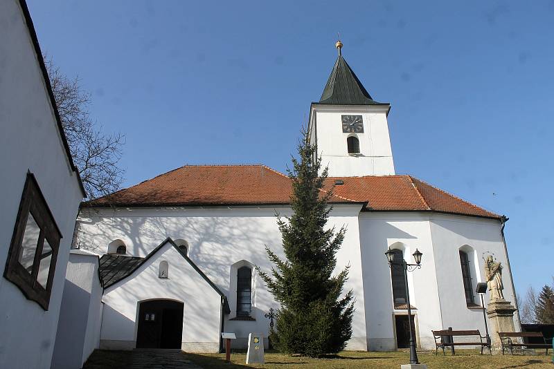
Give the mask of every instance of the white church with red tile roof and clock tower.
[[[337, 254], [355, 294], [347, 350], [408, 345], [406, 282], [388, 249], [408, 263], [423, 254], [407, 278], [418, 346], [435, 348], [431, 330], [485, 332], [475, 287], [487, 256], [504, 266], [504, 295], [515, 301], [506, 218], [395, 174], [391, 104], [373, 100], [341, 47], [308, 132], [335, 185], [328, 226], [347, 227]], [[265, 245], [284, 258], [275, 214], [291, 214], [291, 191], [264, 165], [186, 165], [82, 203], [73, 248], [100, 257], [100, 348], [217, 352], [221, 332], [243, 348], [250, 332], [267, 337], [266, 314], [278, 304], [255, 267], [271, 269]]]

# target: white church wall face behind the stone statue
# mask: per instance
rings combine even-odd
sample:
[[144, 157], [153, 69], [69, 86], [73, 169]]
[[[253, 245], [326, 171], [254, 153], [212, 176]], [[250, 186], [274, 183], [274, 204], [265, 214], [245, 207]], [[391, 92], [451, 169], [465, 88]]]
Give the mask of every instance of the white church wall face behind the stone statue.
[[[472, 280], [472, 289], [477, 282], [486, 282], [484, 263], [487, 255], [492, 255], [503, 266], [502, 281], [504, 297], [515, 304], [514, 290], [510, 278], [506, 252], [501, 237], [501, 223], [499, 220], [472, 218], [465, 216], [449, 216], [435, 214], [431, 218], [431, 235], [436, 254], [436, 274], [441, 292], [440, 307], [443, 316], [443, 326], [453, 329], [479, 329], [485, 335], [483, 310], [467, 308], [463, 289], [460, 256], [458, 249], [471, 247], [474, 252], [470, 263], [476, 264], [472, 272], [476, 272], [476, 279]], [[475, 303], [481, 305], [481, 300], [474, 294]], [[488, 304], [489, 293], [485, 296], [485, 305]], [[517, 312], [514, 314], [516, 330], [521, 330]], [[490, 324], [489, 324], [490, 328]], [[490, 335], [496, 334], [489, 332]]]

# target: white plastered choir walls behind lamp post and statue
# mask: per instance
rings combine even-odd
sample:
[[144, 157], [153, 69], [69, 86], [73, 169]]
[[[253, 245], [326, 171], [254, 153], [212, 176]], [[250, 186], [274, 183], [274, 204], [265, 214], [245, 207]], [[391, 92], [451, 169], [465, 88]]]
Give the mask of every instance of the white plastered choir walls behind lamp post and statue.
[[[414, 263], [411, 254], [416, 248], [423, 253], [421, 269], [408, 274], [411, 305], [416, 308], [413, 313], [418, 346], [422, 348], [434, 348], [431, 330], [452, 327], [479, 329], [485, 334], [483, 311], [467, 308], [465, 303], [460, 247], [468, 245], [478, 256], [479, 265], [474, 270], [477, 281], [484, 281], [483, 254], [494, 254], [504, 266], [506, 299], [514, 301], [499, 220], [437, 213], [367, 212], [360, 214], [360, 240], [370, 350], [395, 349], [393, 314], [406, 312], [393, 308], [391, 274], [384, 256], [388, 247], [403, 248], [408, 263]], [[515, 325], [519, 330], [517, 315]]]

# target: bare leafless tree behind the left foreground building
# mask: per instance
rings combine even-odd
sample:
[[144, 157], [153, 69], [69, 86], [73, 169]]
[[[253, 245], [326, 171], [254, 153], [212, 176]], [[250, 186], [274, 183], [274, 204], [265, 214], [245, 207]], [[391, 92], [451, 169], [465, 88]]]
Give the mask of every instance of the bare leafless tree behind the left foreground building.
[[91, 120], [91, 94], [83, 91], [78, 77], [69, 79], [44, 56], [50, 84], [60, 113], [69, 150], [89, 198], [116, 191], [125, 171], [118, 166], [125, 135], [107, 134]]

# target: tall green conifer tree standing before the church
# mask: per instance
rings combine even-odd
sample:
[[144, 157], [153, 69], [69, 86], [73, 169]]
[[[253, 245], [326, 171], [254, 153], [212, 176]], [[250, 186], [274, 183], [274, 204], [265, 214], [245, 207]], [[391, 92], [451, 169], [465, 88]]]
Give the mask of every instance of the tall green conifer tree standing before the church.
[[348, 267], [333, 275], [346, 229], [325, 228], [332, 189], [323, 189], [328, 170], [319, 175], [321, 158], [307, 137], [303, 131], [299, 158], [292, 158], [293, 169], [287, 171], [292, 180], [292, 216], [277, 219], [286, 259], [266, 246], [274, 263], [271, 276], [257, 269], [280, 303], [271, 342], [280, 352], [321, 357], [346, 346], [354, 305], [351, 290], [342, 294]]

